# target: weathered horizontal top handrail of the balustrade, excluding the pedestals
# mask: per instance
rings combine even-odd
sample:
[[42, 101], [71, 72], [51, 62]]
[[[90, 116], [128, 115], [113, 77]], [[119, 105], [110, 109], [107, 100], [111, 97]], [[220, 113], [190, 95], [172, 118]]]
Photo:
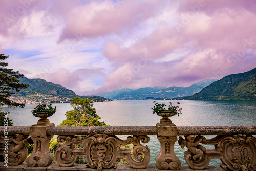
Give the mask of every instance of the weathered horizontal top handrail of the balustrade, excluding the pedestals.
[[[256, 135], [256, 126], [178, 126], [178, 135]], [[9, 126], [8, 134], [29, 135], [30, 126]], [[156, 126], [110, 126], [110, 127], [50, 127], [47, 134], [52, 135], [158, 135]], [[0, 126], [4, 134], [4, 126]]]

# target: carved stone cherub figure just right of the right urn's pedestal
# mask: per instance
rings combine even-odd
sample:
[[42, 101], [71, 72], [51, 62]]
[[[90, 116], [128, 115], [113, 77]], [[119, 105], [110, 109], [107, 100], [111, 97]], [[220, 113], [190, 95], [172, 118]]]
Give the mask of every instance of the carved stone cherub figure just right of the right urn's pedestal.
[[206, 151], [206, 148], [202, 145], [199, 145], [200, 142], [202, 142], [202, 137], [199, 136], [195, 140], [195, 135], [188, 135], [185, 136], [185, 140], [182, 137], [179, 137], [179, 145], [183, 149], [184, 146], [187, 147], [187, 149], [194, 154], [192, 157], [194, 160], [198, 159], [199, 157], [203, 156], [203, 151]]

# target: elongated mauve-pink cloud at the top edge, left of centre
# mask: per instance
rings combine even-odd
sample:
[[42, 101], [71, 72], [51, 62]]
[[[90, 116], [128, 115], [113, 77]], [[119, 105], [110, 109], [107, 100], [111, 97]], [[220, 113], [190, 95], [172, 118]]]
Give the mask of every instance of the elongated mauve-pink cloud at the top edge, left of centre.
[[158, 1], [92, 1], [69, 11], [60, 41], [72, 39], [75, 34], [94, 38], [127, 31], [157, 15], [162, 6]]

